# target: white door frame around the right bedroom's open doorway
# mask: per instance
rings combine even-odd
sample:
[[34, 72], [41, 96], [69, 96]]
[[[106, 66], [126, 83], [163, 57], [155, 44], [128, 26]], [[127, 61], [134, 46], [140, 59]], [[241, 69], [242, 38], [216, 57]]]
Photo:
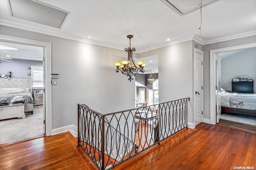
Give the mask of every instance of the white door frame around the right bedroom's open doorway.
[[256, 43], [225, 47], [221, 49], [210, 50], [210, 124], [216, 124], [216, 65], [215, 56], [217, 53], [223, 53], [234, 50], [256, 48]]

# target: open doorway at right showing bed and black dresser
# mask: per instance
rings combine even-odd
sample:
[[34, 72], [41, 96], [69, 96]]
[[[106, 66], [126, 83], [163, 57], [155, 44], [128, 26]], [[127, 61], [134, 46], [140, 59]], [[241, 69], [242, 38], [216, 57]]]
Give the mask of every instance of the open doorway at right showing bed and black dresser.
[[[254, 133], [256, 133], [256, 117], [251, 116], [254, 115], [253, 113], [250, 114], [256, 110], [256, 105], [253, 104], [256, 99], [255, 84], [252, 81], [256, 79], [255, 54], [256, 48], [217, 54], [216, 57], [219, 57], [219, 60], [217, 60], [216, 84], [218, 84], [218, 96], [221, 96], [219, 100], [221, 102], [218, 102], [219, 97], [217, 97], [217, 104], [220, 107], [217, 107], [219, 110], [217, 111], [216, 123], [219, 125], [239, 127], [245, 130], [254, 127]], [[239, 81], [236, 77], [242, 77], [246, 81]], [[238, 80], [238, 82], [234, 82], [234, 80]], [[251, 86], [253, 84], [254, 86]], [[245, 88], [240, 91], [242, 89], [239, 87], [242, 86]], [[239, 103], [241, 105], [233, 105]], [[248, 114], [245, 113], [249, 110], [252, 111]]]

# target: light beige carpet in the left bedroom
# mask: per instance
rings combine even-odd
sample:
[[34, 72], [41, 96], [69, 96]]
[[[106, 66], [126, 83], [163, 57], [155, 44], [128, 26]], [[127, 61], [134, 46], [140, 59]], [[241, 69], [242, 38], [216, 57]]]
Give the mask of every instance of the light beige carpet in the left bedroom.
[[14, 143], [43, 135], [43, 107], [34, 108], [34, 114], [25, 119], [0, 120], [0, 145]]

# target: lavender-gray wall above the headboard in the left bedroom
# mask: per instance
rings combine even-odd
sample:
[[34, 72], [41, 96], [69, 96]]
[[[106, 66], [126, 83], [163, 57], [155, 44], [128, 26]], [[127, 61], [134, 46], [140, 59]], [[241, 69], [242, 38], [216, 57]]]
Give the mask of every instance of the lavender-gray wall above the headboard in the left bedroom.
[[14, 62], [1, 61], [0, 73], [7, 74], [12, 72], [12, 77], [30, 77], [28, 76], [28, 67], [43, 66], [43, 61], [12, 59]]

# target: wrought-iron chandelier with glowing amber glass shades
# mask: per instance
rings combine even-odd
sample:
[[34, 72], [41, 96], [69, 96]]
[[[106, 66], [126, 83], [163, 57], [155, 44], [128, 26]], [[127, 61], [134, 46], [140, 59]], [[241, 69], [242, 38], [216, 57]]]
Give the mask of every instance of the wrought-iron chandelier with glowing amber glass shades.
[[114, 65], [116, 66], [116, 72], [121, 71], [122, 74], [125, 74], [129, 77], [128, 80], [130, 81], [133, 80], [132, 76], [135, 76], [139, 72], [144, 72], [143, 68], [147, 64], [145, 63], [145, 61], [136, 61], [135, 63], [137, 65], [134, 63], [132, 59], [132, 52], [136, 51], [136, 49], [131, 48], [132, 37], [133, 35], [127, 35], [127, 38], [130, 39], [130, 47], [124, 49], [124, 51], [128, 53], [128, 59], [114, 63]]

